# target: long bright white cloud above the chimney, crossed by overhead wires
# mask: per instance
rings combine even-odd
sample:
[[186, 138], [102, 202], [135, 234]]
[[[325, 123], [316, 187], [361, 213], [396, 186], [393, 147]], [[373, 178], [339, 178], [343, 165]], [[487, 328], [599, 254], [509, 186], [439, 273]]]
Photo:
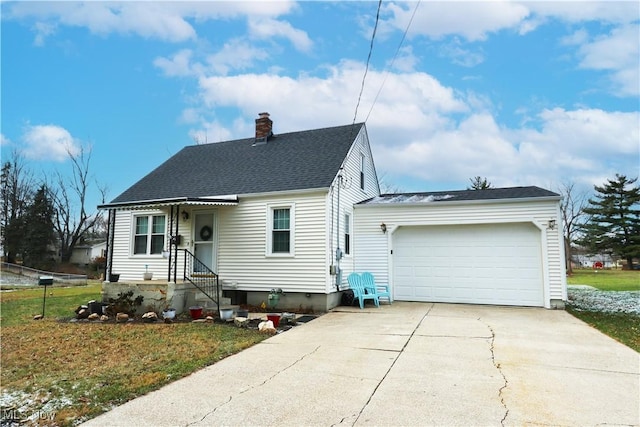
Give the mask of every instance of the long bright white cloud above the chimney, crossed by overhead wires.
[[[274, 124], [277, 131], [285, 132], [344, 124], [345, 117], [354, 115], [354, 100], [360, 90], [355, 82], [361, 81], [363, 72], [363, 64], [345, 61], [327, 68], [324, 78], [243, 74], [202, 77], [199, 85], [208, 108], [233, 106], [248, 117], [266, 110], [278, 117]], [[358, 121], [367, 116], [383, 80], [383, 73], [370, 70]], [[425, 123], [440, 122], [437, 115], [441, 112], [462, 112], [466, 108], [452, 89], [426, 73], [389, 74], [371, 120], [392, 122], [395, 127], [423, 128]]]

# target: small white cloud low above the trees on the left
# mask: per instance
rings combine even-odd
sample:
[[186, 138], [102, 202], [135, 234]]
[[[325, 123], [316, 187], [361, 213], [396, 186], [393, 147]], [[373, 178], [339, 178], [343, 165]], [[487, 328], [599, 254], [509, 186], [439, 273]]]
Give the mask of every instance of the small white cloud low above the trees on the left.
[[29, 125], [22, 140], [25, 157], [33, 160], [63, 162], [69, 158], [69, 154], [80, 153], [78, 141], [68, 130], [56, 125]]

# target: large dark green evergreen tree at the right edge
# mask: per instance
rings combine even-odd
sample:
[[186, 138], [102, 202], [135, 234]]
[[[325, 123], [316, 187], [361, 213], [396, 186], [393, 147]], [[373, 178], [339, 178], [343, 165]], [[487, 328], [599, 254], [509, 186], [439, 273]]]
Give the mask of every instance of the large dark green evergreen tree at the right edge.
[[627, 260], [640, 257], [640, 187], [638, 180], [616, 174], [603, 186], [595, 185], [595, 198], [589, 199], [584, 213], [591, 218], [583, 226], [580, 243], [593, 253], [610, 252]]

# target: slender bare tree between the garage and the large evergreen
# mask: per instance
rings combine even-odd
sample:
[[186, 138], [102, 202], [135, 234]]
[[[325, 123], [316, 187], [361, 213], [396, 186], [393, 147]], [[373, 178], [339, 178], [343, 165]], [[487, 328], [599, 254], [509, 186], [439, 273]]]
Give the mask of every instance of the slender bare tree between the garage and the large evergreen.
[[572, 243], [576, 241], [582, 226], [589, 220], [588, 215], [584, 213], [589, 198], [586, 192], [576, 191], [573, 182], [562, 183], [559, 191], [562, 196], [560, 211], [563, 223], [566, 269], [568, 274], [572, 274]]

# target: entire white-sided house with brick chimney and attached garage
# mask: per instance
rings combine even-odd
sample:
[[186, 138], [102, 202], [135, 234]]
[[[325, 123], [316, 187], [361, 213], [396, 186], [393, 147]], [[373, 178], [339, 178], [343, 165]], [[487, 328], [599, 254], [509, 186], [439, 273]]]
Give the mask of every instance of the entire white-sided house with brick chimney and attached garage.
[[[396, 300], [547, 308], [566, 300], [557, 194], [381, 196], [363, 123], [272, 129], [263, 113], [255, 138], [185, 147], [101, 206], [107, 275], [119, 274], [103, 294], [134, 286], [145, 301], [182, 310], [198, 299], [191, 274], [219, 278], [233, 304], [260, 305], [282, 290], [283, 308], [327, 310], [349, 273], [369, 270]], [[154, 280], [143, 281], [145, 271]]]

